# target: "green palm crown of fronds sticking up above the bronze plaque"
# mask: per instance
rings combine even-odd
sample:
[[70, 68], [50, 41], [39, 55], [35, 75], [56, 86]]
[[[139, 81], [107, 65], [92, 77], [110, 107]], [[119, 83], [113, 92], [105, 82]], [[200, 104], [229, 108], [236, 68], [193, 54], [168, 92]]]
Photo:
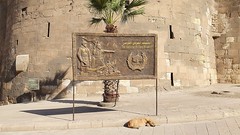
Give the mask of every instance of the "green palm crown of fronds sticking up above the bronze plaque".
[[144, 14], [146, 0], [89, 0], [89, 9], [96, 17], [90, 20], [90, 24], [104, 22], [106, 24], [105, 32], [115, 33], [117, 27], [114, 25], [117, 21], [125, 23], [133, 20], [137, 15]]

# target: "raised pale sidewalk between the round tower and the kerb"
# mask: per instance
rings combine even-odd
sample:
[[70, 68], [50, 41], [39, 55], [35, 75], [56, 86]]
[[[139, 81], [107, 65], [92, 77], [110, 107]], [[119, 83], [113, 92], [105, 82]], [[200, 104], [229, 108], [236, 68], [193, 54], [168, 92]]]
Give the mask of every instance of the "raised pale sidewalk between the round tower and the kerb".
[[[100, 95], [77, 97], [75, 121], [72, 120], [72, 103], [68, 98], [0, 106], [0, 132], [122, 127], [136, 117], [150, 117], [161, 125], [239, 116], [240, 99], [195, 94], [219, 88], [236, 91], [233, 85], [218, 84], [160, 92], [158, 116], [155, 116], [155, 92], [122, 94], [117, 106], [109, 108], [97, 106]], [[198, 127], [199, 131], [202, 128], [202, 125]]]

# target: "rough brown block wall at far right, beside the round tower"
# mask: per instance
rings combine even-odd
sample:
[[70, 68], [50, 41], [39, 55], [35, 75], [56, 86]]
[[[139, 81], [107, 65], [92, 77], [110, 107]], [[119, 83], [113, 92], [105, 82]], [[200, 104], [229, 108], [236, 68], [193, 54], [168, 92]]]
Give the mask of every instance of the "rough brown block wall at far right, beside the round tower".
[[240, 83], [240, 1], [218, 0], [215, 49], [220, 83]]

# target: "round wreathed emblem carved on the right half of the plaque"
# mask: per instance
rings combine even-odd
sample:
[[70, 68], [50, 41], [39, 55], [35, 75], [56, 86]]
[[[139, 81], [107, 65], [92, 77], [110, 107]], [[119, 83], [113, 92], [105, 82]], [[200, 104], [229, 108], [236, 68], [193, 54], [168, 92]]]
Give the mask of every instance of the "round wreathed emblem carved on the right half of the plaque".
[[127, 58], [128, 67], [131, 70], [143, 70], [147, 64], [147, 55], [144, 52], [138, 52], [134, 54], [131, 52]]

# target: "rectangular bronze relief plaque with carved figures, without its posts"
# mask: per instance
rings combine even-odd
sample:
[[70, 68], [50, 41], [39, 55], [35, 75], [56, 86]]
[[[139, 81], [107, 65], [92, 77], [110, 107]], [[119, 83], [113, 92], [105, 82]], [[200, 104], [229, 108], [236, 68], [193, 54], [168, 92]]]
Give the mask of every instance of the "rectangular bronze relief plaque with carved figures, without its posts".
[[154, 79], [155, 34], [73, 34], [75, 80]]

